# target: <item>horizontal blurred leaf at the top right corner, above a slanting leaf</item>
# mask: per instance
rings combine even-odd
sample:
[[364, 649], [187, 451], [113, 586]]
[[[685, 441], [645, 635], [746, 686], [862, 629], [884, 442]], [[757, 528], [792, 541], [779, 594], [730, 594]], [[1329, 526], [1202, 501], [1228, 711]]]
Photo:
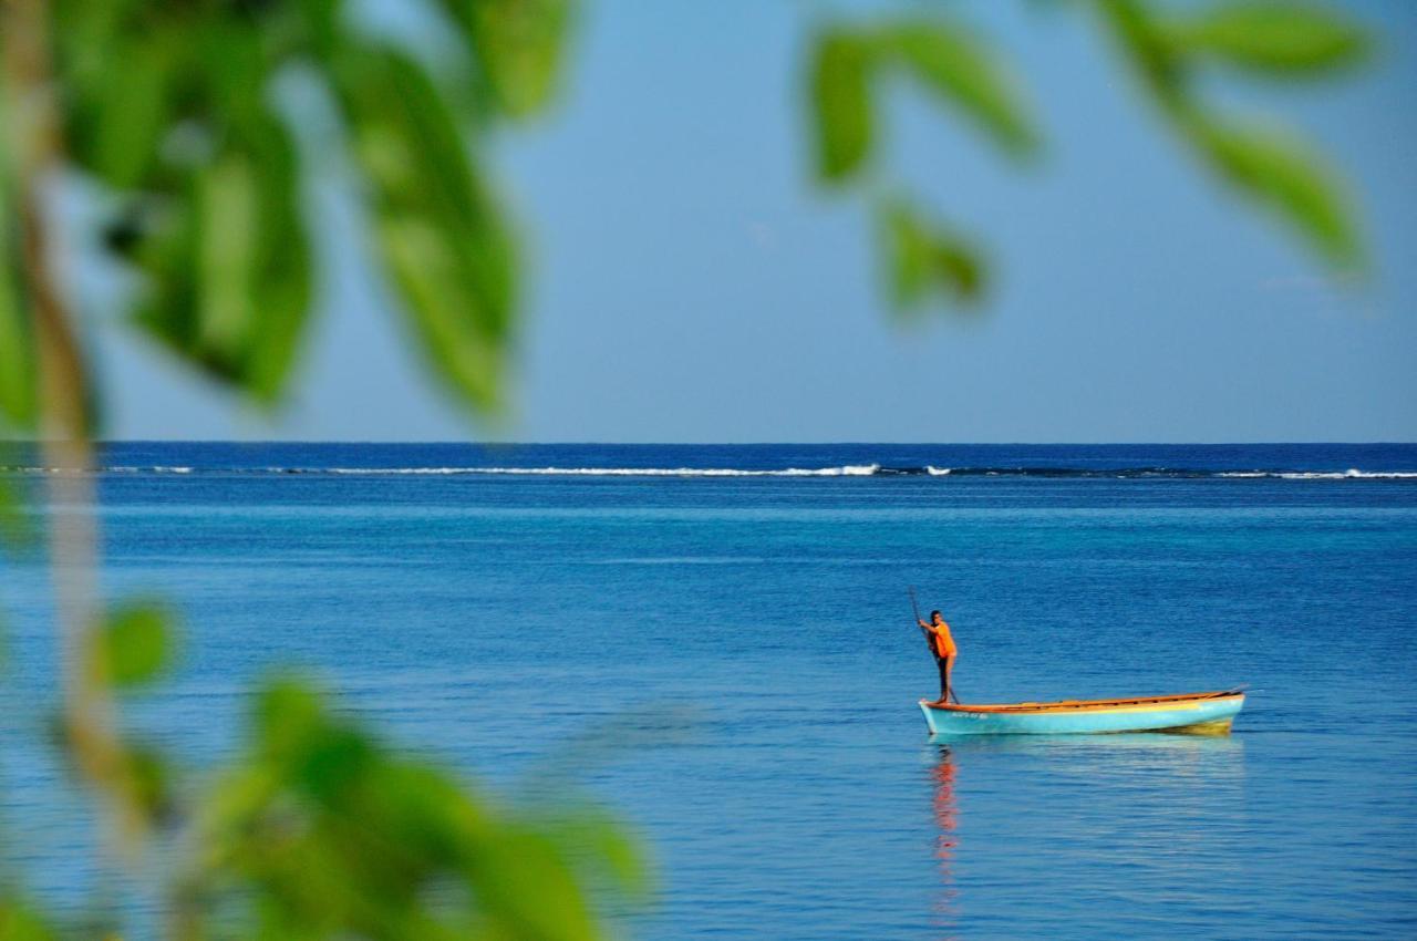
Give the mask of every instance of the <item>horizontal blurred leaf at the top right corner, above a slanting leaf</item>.
[[1170, 26], [1185, 51], [1281, 75], [1328, 72], [1362, 61], [1366, 31], [1323, 7], [1282, 0], [1224, 3]]

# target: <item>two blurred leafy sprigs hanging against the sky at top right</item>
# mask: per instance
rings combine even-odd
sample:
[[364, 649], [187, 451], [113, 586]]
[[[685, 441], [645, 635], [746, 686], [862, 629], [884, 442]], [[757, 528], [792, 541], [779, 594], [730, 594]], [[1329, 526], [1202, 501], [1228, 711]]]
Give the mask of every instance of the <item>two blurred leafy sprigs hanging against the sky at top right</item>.
[[[1209, 65], [1270, 78], [1328, 75], [1360, 62], [1366, 33], [1326, 7], [1299, 0], [1161, 4], [1095, 0], [1104, 21], [1183, 140], [1238, 191], [1275, 210], [1335, 266], [1362, 259], [1357, 224], [1342, 186], [1297, 136], [1221, 116], [1196, 92]], [[964, 118], [1005, 154], [1040, 146], [1013, 69], [958, 14], [918, 13], [864, 24], [837, 23], [812, 47], [809, 103], [819, 179], [873, 193], [891, 296], [913, 309], [930, 296], [978, 298], [988, 283], [979, 249], [952, 225], [896, 191], [863, 180], [880, 147], [884, 86], [904, 81]]]

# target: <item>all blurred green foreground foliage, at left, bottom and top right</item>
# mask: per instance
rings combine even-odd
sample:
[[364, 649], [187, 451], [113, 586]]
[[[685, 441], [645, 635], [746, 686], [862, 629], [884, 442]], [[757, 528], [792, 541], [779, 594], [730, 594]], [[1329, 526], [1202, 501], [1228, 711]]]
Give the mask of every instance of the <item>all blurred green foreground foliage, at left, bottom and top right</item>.
[[[901, 310], [979, 299], [990, 278], [972, 237], [873, 177], [883, 163], [881, 96], [913, 88], [1013, 162], [1043, 145], [1016, 69], [962, 6], [833, 20], [812, 43], [816, 176], [871, 201]], [[1328, 264], [1362, 262], [1336, 174], [1294, 135], [1216, 111], [1197, 81], [1212, 67], [1268, 79], [1331, 75], [1365, 60], [1362, 28], [1289, 0], [1070, 6], [1098, 14], [1149, 101], [1219, 179], [1272, 210]], [[496, 405], [519, 254], [486, 157], [502, 126], [551, 101], [575, 4], [419, 0], [453, 37], [452, 55], [395, 44], [351, 7], [0, 0], [0, 429], [34, 434], [41, 412], [57, 410], [55, 388], [89, 395], [85, 376], [62, 370], [38, 394], [40, 361], [57, 361], [55, 349], [41, 357], [40, 347], [64, 330], [37, 326], [35, 298], [55, 275], [40, 251], [54, 221], [35, 207], [60, 174], [101, 194], [105, 251], [137, 283], [118, 299], [130, 320], [215, 381], [279, 402], [317, 283], [319, 224], [305, 198], [317, 169], [279, 94], [296, 74], [323, 89], [337, 119], [339, 166], [353, 176], [395, 312], [459, 401]], [[51, 120], [37, 120], [45, 109]], [[24, 135], [50, 126], [58, 146], [27, 146]], [[34, 166], [34, 153], [51, 163]], [[0, 472], [0, 537], [11, 543], [28, 531], [13, 483]], [[79, 673], [89, 707], [109, 690], [132, 696], [157, 682], [177, 633], [156, 601], [123, 602], [99, 621], [86, 626], [91, 669]], [[77, 755], [94, 738], [92, 716], [67, 709], [55, 727]], [[278, 680], [255, 697], [247, 750], [213, 781], [184, 782], [133, 730], [116, 734], [116, 754], [99, 755], [113, 767], [95, 771], [91, 761], [86, 775], [135, 804], [149, 842], [176, 860], [157, 867], [173, 938], [585, 940], [604, 930], [599, 898], [648, 889], [638, 843], [604, 812], [560, 792], [554, 812], [503, 806], [380, 743], [309, 683]], [[0, 941], [92, 934], [57, 925], [0, 872]]]

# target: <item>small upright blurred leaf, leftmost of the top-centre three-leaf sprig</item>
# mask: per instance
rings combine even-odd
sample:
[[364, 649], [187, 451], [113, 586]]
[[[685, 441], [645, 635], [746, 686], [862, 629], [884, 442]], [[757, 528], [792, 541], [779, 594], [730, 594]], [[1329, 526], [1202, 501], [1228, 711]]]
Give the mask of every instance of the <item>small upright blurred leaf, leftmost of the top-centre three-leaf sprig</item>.
[[826, 181], [852, 176], [871, 150], [871, 44], [846, 30], [818, 37], [811, 74], [816, 166]]

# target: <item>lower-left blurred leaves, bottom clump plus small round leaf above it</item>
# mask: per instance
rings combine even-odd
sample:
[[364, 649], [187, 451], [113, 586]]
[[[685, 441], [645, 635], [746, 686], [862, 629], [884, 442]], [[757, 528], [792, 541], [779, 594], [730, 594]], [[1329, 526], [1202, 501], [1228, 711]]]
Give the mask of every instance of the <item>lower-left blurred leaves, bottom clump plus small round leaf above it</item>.
[[[137, 693], [173, 659], [174, 616], [125, 602], [99, 638], [101, 669]], [[62, 720], [57, 731], [72, 734]], [[540, 811], [503, 805], [388, 748], [296, 679], [254, 697], [247, 750], [207, 781], [179, 787], [135, 733], [112, 778], [174, 847], [173, 938], [592, 941], [605, 937], [602, 903], [649, 890], [638, 842], [604, 811], [564, 788]], [[0, 941], [68, 937], [45, 931], [0, 886]]]

